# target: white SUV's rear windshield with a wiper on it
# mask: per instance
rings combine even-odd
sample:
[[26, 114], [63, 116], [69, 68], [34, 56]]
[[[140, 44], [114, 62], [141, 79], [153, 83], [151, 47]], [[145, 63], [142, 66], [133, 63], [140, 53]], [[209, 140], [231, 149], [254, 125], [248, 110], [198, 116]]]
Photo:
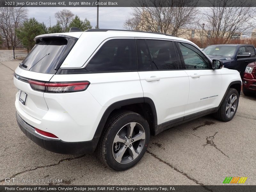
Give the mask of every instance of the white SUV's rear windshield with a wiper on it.
[[[67, 56], [66, 38], [43, 38], [22, 61], [20, 68], [39, 73], [55, 74], [55, 68]], [[69, 51], [68, 51], [69, 52]]]

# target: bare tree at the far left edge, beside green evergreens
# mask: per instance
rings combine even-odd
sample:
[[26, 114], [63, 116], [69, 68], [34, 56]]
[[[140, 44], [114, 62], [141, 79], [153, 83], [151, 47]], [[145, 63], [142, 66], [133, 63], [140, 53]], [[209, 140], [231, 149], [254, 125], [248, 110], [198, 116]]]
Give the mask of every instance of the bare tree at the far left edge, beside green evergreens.
[[27, 19], [28, 10], [24, 7], [0, 7], [0, 29], [4, 44], [8, 49], [18, 45], [16, 30]]

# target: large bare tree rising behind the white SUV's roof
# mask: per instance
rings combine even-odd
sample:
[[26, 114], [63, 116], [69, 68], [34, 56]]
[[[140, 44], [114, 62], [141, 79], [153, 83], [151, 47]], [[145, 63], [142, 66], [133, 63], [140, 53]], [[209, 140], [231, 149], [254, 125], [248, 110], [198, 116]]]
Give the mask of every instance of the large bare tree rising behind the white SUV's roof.
[[197, 3], [197, 0], [140, 0], [133, 7], [132, 18], [125, 21], [124, 28], [179, 36], [180, 28], [187, 29], [193, 23]]

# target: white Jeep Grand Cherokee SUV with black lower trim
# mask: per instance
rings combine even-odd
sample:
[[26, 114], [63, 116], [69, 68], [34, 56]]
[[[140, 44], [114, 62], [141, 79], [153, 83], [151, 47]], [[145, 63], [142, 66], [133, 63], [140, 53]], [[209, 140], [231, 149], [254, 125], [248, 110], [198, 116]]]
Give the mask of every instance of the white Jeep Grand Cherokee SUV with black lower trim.
[[[135, 165], [150, 133], [214, 113], [231, 120], [239, 72], [165, 34], [91, 29], [36, 36], [14, 73], [20, 129], [57, 153], [92, 153], [115, 170]], [[222, 68], [222, 69], [220, 69]]]

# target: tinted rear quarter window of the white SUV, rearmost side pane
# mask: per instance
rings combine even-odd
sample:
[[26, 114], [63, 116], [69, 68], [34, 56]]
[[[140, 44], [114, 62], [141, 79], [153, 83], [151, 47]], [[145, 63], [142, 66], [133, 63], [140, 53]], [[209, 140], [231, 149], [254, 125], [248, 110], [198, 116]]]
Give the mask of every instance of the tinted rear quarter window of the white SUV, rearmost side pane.
[[112, 39], [107, 41], [85, 68], [91, 72], [137, 70], [135, 40]]

